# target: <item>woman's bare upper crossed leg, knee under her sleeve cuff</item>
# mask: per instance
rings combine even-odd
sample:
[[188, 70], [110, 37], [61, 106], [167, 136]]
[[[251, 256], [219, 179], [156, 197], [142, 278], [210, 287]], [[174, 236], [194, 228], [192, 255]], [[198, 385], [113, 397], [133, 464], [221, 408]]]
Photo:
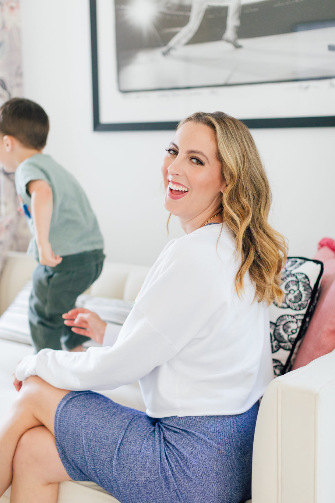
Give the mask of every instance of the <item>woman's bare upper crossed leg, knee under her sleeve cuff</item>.
[[36, 376], [29, 377], [23, 384], [0, 426], [0, 496], [12, 483], [13, 458], [19, 440], [28, 430], [41, 425], [54, 435], [56, 408], [67, 393]]

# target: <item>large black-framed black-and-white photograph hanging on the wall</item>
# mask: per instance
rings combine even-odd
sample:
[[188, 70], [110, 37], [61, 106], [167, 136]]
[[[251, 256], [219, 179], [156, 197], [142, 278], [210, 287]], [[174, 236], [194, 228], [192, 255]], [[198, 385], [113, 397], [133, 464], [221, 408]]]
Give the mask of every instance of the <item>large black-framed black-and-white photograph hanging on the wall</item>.
[[335, 126], [333, 0], [90, 0], [94, 130]]

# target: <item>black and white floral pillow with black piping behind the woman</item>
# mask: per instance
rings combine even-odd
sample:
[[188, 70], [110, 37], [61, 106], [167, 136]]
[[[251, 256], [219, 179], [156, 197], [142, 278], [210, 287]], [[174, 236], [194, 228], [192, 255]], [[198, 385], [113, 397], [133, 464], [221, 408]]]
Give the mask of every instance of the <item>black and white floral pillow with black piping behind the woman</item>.
[[316, 305], [323, 264], [289, 257], [282, 276], [284, 298], [270, 305], [270, 335], [276, 376], [288, 372]]

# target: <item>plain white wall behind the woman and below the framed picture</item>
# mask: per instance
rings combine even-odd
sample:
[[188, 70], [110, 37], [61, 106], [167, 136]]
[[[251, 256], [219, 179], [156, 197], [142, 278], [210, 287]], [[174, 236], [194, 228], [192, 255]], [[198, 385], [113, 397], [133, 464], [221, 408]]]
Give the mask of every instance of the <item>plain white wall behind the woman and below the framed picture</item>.
[[[107, 0], [106, 0], [107, 1]], [[108, 260], [151, 265], [168, 241], [160, 162], [173, 133], [93, 132], [88, 0], [21, 0], [24, 95], [50, 117], [45, 152], [85, 189]], [[290, 255], [335, 237], [335, 128], [252, 131]], [[171, 219], [172, 220], [172, 219]], [[170, 238], [182, 235], [172, 221]]]

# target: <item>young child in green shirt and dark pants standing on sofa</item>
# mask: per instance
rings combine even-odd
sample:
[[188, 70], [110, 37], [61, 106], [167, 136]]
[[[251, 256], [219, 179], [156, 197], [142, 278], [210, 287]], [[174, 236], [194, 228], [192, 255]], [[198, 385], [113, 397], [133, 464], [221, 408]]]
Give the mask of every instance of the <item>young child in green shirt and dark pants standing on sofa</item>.
[[[0, 108], [0, 162], [15, 172], [15, 185], [34, 235], [39, 261], [33, 273], [29, 324], [36, 351], [82, 351], [86, 337], [64, 326], [73, 308], [101, 273], [103, 238], [88, 199], [72, 175], [43, 154], [49, 132], [44, 110], [13, 98]], [[62, 337], [63, 336], [63, 337]]]

